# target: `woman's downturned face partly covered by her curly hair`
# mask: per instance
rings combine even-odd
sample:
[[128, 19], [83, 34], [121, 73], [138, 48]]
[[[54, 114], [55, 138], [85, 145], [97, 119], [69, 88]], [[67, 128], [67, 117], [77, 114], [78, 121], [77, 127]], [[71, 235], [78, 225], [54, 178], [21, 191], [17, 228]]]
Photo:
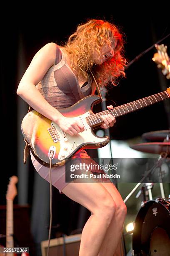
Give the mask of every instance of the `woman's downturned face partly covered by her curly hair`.
[[111, 59], [114, 55], [114, 50], [116, 48], [116, 45], [117, 45], [117, 39], [114, 39], [112, 42], [112, 47], [110, 47], [108, 45], [103, 46], [101, 49], [101, 54], [100, 54], [99, 59], [97, 59], [97, 57], [98, 57], [97, 52], [94, 52], [92, 54], [93, 63], [101, 65], [106, 60]]

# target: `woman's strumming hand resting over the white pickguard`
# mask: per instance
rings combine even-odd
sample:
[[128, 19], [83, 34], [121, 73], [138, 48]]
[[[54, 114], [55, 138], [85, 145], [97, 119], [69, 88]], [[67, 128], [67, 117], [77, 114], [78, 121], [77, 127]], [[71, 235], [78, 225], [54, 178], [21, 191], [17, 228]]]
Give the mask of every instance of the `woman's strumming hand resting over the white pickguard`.
[[68, 133], [71, 136], [84, 131], [84, 125], [74, 118], [67, 118], [62, 115], [58, 118], [56, 123], [63, 131], [65, 131], [65, 133]]

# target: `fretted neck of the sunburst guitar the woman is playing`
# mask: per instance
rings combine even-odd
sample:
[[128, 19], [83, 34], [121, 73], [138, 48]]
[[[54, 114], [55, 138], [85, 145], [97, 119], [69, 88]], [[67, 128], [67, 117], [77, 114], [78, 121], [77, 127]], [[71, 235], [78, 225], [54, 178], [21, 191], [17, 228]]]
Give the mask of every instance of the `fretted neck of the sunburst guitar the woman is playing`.
[[92, 114], [92, 115], [88, 116], [86, 118], [86, 120], [87, 120], [88, 125], [90, 125], [91, 127], [95, 127], [95, 126], [101, 125], [103, 123], [101, 115], [107, 115], [110, 113], [111, 115], [113, 115], [116, 118], [118, 116], [131, 113], [140, 108], [145, 108], [145, 107], [152, 105], [156, 102], [160, 102], [162, 100], [168, 99], [168, 98], [170, 98], [169, 94], [170, 94], [170, 92], [168, 89], [167, 91], [160, 92], [160, 93], [151, 95], [149, 97], [145, 97], [140, 100], [135, 100], [130, 103], [121, 105], [119, 107], [112, 108], [110, 110], [105, 110], [105, 111], [99, 112], [97, 114]]

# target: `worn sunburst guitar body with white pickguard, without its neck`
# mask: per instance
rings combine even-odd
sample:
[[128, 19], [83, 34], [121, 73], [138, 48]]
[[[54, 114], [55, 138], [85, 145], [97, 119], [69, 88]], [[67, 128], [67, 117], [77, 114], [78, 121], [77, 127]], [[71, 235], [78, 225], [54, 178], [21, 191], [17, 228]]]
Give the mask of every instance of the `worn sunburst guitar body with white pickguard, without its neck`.
[[[55, 156], [52, 166], [65, 164], [65, 159], [71, 157], [77, 151], [85, 148], [100, 148], [109, 142], [109, 137], [98, 137], [93, 132], [94, 123], [90, 123], [88, 117], [93, 114], [92, 105], [100, 102], [97, 95], [87, 96], [69, 108], [58, 109], [62, 115], [79, 120], [85, 130], [77, 135], [70, 136], [60, 129], [56, 123], [45, 118], [35, 110], [30, 111], [22, 122], [22, 132], [32, 154], [37, 161], [49, 166], [49, 148], [55, 147]], [[103, 121], [100, 119], [100, 124]], [[99, 123], [95, 123], [99, 125]]]

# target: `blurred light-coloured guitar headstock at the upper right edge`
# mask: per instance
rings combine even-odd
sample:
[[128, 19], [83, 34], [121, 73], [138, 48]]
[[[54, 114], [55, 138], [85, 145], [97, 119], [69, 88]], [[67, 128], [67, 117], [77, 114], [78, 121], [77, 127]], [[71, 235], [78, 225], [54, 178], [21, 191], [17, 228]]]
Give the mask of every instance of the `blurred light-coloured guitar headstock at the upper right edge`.
[[155, 44], [157, 53], [153, 56], [153, 61], [158, 64], [158, 68], [162, 69], [162, 73], [170, 79], [170, 57], [167, 54], [167, 46], [164, 44]]

